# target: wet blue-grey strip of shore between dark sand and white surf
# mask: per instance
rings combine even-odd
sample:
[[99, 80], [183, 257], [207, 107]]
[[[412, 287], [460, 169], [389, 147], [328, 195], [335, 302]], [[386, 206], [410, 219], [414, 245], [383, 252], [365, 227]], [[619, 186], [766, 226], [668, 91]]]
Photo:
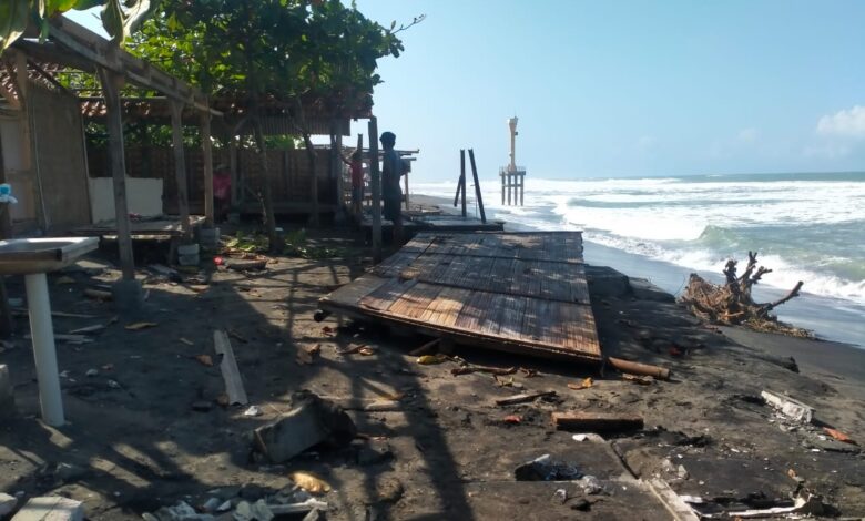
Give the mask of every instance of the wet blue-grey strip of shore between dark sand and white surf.
[[[458, 213], [452, 207], [451, 202], [440, 196], [411, 194], [413, 204], [436, 206], [450, 214]], [[492, 218], [497, 218], [493, 212], [488, 211], [488, 213], [492, 214]], [[506, 221], [506, 231], [540, 229], [521, 223], [502, 221]], [[610, 266], [628, 276], [649, 279], [652, 284], [676, 297], [688, 284], [688, 277], [692, 272], [716, 284], [723, 282], [720, 267], [718, 273], [694, 270], [594, 243], [591, 239], [584, 239], [583, 244], [587, 264]], [[828, 306], [827, 304], [831, 304], [833, 299], [808, 294], [806, 289], [807, 284], [802, 296], [774, 310], [778, 319], [813, 331], [818, 341], [844, 344], [865, 353], [865, 324], [858, 324], [856, 313], [845, 309], [844, 306]], [[763, 285], [756, 286], [754, 293], [757, 300], [771, 302], [784, 296], [786, 290]]]

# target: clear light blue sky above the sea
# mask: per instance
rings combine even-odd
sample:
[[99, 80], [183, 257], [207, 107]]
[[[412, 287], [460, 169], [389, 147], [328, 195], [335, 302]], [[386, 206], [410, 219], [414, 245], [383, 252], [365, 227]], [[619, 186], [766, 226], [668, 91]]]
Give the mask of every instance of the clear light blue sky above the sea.
[[[347, 1], [347, 0], [346, 0]], [[399, 35], [379, 132], [416, 181], [865, 170], [865, 2], [357, 0]], [[353, 125], [364, 133], [365, 122]], [[355, 137], [348, 139], [353, 143]]]

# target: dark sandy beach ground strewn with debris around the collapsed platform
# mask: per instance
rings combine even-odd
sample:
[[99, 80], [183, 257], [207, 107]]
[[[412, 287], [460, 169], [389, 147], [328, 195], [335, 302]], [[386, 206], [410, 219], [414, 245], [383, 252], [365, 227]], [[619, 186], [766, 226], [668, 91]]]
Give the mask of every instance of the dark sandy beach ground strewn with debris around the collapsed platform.
[[[320, 297], [374, 264], [348, 228], [308, 235], [308, 247], [334, 253], [275, 256], [261, 272], [212, 267], [184, 282], [141, 268], [146, 305], [119, 321], [111, 303], [81, 295], [119, 276], [110, 253], [50, 275], [53, 309], [91, 317], [57, 317], [57, 330], [105, 327], [85, 344], [58, 346], [69, 423], [51, 428], [38, 419], [26, 317], [16, 319], [19, 335], [0, 353], [16, 400], [0, 423], [0, 490], [61, 494], [82, 501], [89, 519], [132, 520], [179, 501], [271, 501], [291, 490], [291, 472], [305, 471], [332, 487], [317, 494], [329, 520], [663, 520], [670, 514], [647, 488], [660, 479], [700, 498], [693, 508], [703, 513], [787, 507], [813, 493], [823, 515], [865, 515], [859, 447], [823, 430], [862, 442], [862, 349], [708, 328], [610, 254], [611, 266], [596, 257], [587, 272], [603, 354], [666, 368], [669, 380], [638, 385], [610, 367], [460, 345], [447, 351], [452, 358], [421, 365], [410, 351], [428, 337], [336, 315], [314, 319]], [[10, 296], [22, 294], [20, 280], [8, 285]], [[128, 327], [138, 323], [152, 326]], [[230, 335], [257, 416], [220, 401], [220, 364], [202, 358], [216, 357], [215, 329]], [[511, 372], [455, 375], [457, 367]], [[357, 439], [278, 462], [252, 451], [252, 429], [283, 418], [302, 389], [344, 407]], [[817, 423], [783, 417], [764, 390], [806, 402]], [[539, 391], [551, 398], [496, 403]], [[644, 426], [578, 441], [550, 422], [563, 411], [637, 416]], [[543, 454], [591, 479], [515, 479], [516, 468]]]

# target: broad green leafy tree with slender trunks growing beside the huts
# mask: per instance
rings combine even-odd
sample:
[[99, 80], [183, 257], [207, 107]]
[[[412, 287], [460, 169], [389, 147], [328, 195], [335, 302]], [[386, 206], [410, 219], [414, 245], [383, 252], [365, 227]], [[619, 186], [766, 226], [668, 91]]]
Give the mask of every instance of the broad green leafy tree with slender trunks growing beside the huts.
[[[179, 0], [163, 2], [136, 34], [132, 51], [211, 95], [245, 102], [257, 149], [266, 168], [263, 106], [293, 115], [313, 168], [315, 151], [305, 112], [309, 103], [333, 116], [372, 106], [377, 60], [398, 57], [400, 27], [385, 29], [339, 0]], [[417, 23], [420, 19], [415, 19]], [[410, 25], [409, 25], [410, 27]], [[315, 172], [315, 170], [313, 170]], [[265, 170], [266, 175], [266, 170]], [[313, 182], [311, 198], [317, 204]], [[269, 183], [262, 200], [268, 237], [276, 244]], [[314, 210], [312, 221], [318, 215]]]

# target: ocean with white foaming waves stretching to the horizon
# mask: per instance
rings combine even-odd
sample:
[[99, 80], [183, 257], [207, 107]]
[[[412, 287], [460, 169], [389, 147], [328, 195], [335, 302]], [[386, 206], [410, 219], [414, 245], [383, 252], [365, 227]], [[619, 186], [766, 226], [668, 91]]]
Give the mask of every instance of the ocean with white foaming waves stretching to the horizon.
[[[690, 273], [714, 282], [729, 258], [757, 251], [772, 269], [759, 302], [802, 295], [778, 318], [820, 338], [865, 347], [865, 173], [694, 175], [552, 181], [526, 177], [525, 206], [501, 204], [498, 178], [480, 181], [488, 218], [506, 229], [580, 229], [589, 264], [652, 280], [678, 295]], [[456, 182], [414, 183], [448, 197]], [[469, 212], [477, 213], [469, 186]]]

